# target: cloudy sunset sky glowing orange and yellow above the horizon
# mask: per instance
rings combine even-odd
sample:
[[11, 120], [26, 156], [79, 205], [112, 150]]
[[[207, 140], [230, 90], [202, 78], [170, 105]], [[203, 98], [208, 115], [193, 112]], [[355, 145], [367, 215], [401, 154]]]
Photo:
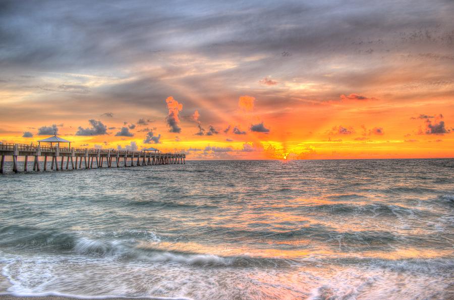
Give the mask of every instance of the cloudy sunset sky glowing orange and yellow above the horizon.
[[454, 157], [454, 2], [0, 0], [0, 141]]

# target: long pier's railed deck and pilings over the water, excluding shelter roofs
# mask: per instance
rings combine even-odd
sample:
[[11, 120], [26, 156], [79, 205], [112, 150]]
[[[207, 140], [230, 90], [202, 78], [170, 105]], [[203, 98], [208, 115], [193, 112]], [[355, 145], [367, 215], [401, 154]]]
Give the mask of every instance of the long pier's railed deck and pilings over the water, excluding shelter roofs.
[[[29, 157], [34, 157], [33, 171], [40, 171], [39, 158], [44, 157], [43, 171], [47, 170], [47, 161], [51, 160], [50, 170], [77, 170], [111, 167], [136, 167], [152, 165], [186, 164], [185, 154], [151, 153], [147, 151], [129, 151], [97, 148], [77, 148], [43, 145], [0, 143], [0, 173], [4, 173], [5, 157], [13, 157], [13, 171], [19, 172], [18, 157], [25, 157], [23, 171], [27, 172]], [[65, 166], [66, 160], [66, 166]], [[113, 164], [112, 164], [113, 163]]]

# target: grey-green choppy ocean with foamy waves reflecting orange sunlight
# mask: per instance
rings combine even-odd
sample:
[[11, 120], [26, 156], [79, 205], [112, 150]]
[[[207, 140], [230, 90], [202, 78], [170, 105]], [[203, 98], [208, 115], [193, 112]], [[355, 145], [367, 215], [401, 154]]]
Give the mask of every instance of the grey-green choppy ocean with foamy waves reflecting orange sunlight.
[[13, 295], [453, 299], [454, 160], [9, 173], [0, 268]]

